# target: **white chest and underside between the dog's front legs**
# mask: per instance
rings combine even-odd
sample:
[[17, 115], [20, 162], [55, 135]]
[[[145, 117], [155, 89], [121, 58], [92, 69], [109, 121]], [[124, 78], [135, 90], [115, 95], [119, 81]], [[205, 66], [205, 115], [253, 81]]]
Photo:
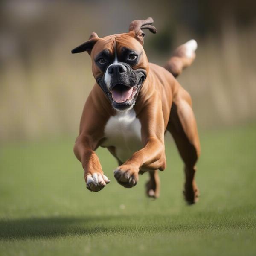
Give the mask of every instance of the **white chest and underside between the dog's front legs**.
[[141, 148], [141, 124], [133, 109], [117, 112], [111, 116], [105, 126], [103, 147], [115, 147], [116, 157], [125, 162], [132, 154]]

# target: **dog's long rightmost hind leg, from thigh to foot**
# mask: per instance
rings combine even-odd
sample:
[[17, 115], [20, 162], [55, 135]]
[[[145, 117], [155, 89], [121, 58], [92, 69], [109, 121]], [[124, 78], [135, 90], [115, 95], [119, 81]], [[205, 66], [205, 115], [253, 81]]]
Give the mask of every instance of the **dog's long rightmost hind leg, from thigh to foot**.
[[181, 89], [179, 96], [174, 99], [167, 130], [171, 132], [180, 156], [185, 163], [185, 200], [188, 204], [194, 204], [199, 195], [195, 183], [195, 163], [200, 155], [200, 142], [195, 116], [191, 107], [191, 98], [184, 89]]

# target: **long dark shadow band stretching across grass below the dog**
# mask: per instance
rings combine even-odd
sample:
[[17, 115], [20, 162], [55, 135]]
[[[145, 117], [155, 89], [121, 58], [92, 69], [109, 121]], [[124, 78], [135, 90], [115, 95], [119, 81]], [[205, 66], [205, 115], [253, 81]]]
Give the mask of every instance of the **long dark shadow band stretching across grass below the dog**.
[[[241, 207], [226, 209], [223, 215], [239, 215]], [[247, 214], [255, 212], [255, 207], [247, 207]], [[179, 214], [173, 215], [99, 215], [81, 217], [35, 217], [7, 219], [0, 221], [0, 240], [12, 239], [38, 239], [57, 238], [69, 235], [95, 235], [105, 233], [127, 232], [141, 233], [143, 230], [154, 230], [154, 232], [175, 232], [194, 230], [208, 230], [209, 219], [211, 229], [248, 227], [256, 225], [256, 220], [244, 220], [230, 218], [230, 220], [214, 219], [215, 212], [209, 211], [204, 214], [198, 212], [192, 216], [190, 221], [184, 221], [184, 217]], [[158, 220], [158, 222], [156, 221]], [[196, 220], [196, 221], [195, 221]]]

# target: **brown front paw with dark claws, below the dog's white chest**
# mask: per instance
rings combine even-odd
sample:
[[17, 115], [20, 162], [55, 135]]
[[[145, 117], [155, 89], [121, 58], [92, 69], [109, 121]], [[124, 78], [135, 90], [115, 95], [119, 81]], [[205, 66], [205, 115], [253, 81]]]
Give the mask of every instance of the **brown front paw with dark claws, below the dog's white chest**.
[[114, 171], [117, 182], [125, 188], [135, 186], [139, 179], [139, 168], [132, 165], [121, 165]]

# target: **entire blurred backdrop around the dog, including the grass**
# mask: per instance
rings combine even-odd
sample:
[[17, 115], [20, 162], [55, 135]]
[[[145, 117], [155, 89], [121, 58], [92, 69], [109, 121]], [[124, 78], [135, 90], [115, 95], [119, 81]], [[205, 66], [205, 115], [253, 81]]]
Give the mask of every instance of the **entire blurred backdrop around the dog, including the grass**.
[[[198, 41], [178, 77], [202, 148], [194, 207], [170, 137], [156, 201], [145, 197], [147, 174], [133, 189], [115, 181], [104, 148], [96, 153], [111, 183], [90, 193], [73, 154], [95, 81], [90, 56], [71, 49], [150, 16], [149, 61], [163, 65]], [[255, 46], [252, 0], [0, 0], [0, 255], [256, 255]]]

